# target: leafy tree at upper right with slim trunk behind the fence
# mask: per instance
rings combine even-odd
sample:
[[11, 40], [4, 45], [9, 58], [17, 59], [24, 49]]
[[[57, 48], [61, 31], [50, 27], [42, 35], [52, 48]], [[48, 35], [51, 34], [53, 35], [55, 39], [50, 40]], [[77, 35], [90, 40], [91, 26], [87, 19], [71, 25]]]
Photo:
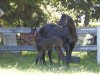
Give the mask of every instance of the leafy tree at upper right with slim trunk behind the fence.
[[[67, 7], [69, 10], [74, 10], [77, 12], [77, 15], [85, 15], [84, 25], [87, 27], [89, 25], [89, 19], [91, 15], [96, 17], [96, 7], [95, 5], [100, 4], [98, 0], [61, 0], [61, 3], [64, 7]], [[100, 5], [99, 5], [100, 6]], [[98, 7], [100, 9], [100, 7]], [[93, 13], [94, 9], [94, 13]]]

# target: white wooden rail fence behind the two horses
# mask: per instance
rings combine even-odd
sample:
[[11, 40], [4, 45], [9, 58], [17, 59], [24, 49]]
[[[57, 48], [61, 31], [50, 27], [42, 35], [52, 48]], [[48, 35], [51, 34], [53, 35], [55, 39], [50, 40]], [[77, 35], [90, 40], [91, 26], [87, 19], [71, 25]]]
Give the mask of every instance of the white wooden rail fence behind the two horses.
[[[32, 45], [22, 45], [17, 46], [16, 44], [16, 34], [17, 33], [30, 33], [31, 28], [0, 28], [0, 32], [3, 34], [3, 45], [0, 46], [0, 50], [12, 50], [12, 51], [33, 51], [36, 48]], [[77, 29], [77, 34], [87, 34], [94, 33], [97, 34], [97, 45], [88, 46], [76, 46], [74, 51], [97, 51], [97, 63], [100, 64], [100, 27], [95, 28], [79, 28]], [[13, 35], [10, 35], [13, 34]], [[13, 37], [13, 38], [12, 38]], [[13, 44], [10, 44], [13, 43]]]

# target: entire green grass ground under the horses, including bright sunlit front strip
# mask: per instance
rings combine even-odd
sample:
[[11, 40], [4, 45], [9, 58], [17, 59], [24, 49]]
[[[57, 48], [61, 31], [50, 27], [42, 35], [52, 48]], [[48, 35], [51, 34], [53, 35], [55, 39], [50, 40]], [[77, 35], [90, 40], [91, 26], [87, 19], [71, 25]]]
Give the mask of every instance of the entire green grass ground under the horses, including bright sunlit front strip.
[[80, 56], [80, 63], [71, 63], [70, 66], [57, 64], [57, 55], [53, 53], [54, 65], [50, 65], [46, 56], [47, 65], [35, 65], [36, 52], [23, 52], [22, 56], [13, 54], [0, 55], [0, 75], [100, 75], [100, 65], [96, 64], [96, 52], [73, 52]]

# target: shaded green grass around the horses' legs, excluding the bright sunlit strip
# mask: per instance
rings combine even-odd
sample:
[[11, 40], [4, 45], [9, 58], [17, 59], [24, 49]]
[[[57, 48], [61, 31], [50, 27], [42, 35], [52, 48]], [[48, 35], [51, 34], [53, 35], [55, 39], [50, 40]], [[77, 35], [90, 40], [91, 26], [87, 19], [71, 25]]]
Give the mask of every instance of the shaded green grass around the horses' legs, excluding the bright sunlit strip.
[[26, 52], [22, 56], [16, 56], [13, 54], [0, 55], [0, 68], [16, 68], [19, 70], [40, 70], [40, 71], [52, 71], [52, 72], [94, 72], [100, 71], [100, 65], [96, 64], [96, 52], [90, 52], [88, 55], [81, 57], [80, 63], [71, 63], [70, 66], [63, 66], [57, 64], [57, 56], [53, 54], [54, 64], [50, 65], [48, 59], [46, 59], [47, 65], [35, 65], [36, 52]]

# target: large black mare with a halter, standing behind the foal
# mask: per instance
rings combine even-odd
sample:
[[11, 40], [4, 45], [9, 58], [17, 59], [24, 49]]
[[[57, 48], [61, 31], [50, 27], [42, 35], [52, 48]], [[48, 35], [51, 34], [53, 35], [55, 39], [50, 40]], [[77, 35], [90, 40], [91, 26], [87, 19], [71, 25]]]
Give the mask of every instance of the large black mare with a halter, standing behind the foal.
[[[56, 36], [63, 40], [63, 48], [66, 51], [66, 62], [69, 65], [73, 48], [77, 42], [76, 27], [73, 19], [66, 14], [62, 14], [57, 24], [46, 24], [41, 27], [40, 34], [46, 38]], [[52, 63], [52, 50], [48, 54], [49, 60]], [[45, 62], [44, 56], [45, 52], [43, 53], [43, 60]]]

